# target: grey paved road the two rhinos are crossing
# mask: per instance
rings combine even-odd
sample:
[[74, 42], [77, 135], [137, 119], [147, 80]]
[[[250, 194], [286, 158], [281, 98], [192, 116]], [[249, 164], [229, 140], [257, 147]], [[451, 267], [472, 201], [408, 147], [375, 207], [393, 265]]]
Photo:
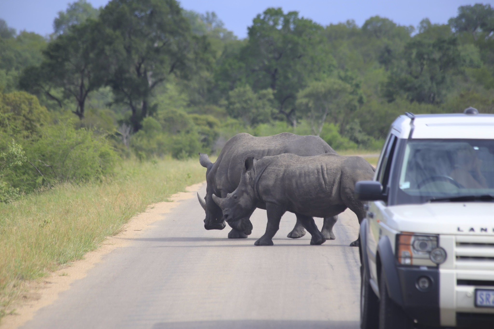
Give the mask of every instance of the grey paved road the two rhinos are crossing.
[[310, 246], [309, 234], [286, 237], [292, 214], [272, 247], [253, 245], [264, 233], [265, 211], [254, 212], [252, 235], [241, 240], [227, 239], [227, 228], [206, 231], [202, 219], [197, 198], [181, 201], [22, 328], [358, 328], [352, 212], [340, 215], [336, 240], [322, 246]]

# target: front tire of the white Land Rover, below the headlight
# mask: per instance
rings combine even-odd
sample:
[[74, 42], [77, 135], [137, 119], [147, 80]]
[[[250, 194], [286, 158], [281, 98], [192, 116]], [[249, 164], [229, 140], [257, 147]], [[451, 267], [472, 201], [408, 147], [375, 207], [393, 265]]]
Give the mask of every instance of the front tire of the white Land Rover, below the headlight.
[[379, 329], [413, 329], [413, 320], [388, 295], [384, 269], [379, 279]]

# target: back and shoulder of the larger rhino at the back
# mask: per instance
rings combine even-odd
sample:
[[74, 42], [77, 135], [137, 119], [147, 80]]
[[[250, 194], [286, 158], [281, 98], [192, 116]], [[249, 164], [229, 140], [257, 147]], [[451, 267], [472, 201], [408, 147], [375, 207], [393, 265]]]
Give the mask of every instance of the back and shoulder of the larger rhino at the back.
[[281, 133], [274, 136], [253, 137], [246, 133], [238, 134], [228, 140], [211, 170], [211, 174], [215, 176], [217, 189], [230, 193], [237, 188], [244, 160], [247, 157], [261, 159], [284, 153], [311, 156], [335, 153], [335, 151], [317, 136]]

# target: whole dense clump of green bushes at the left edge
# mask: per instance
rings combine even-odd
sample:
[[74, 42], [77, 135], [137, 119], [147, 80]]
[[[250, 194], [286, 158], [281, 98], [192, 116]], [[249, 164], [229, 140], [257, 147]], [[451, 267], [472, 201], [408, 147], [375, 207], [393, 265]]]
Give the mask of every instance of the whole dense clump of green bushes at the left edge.
[[60, 182], [102, 180], [113, 172], [118, 155], [105, 135], [76, 129], [73, 118], [50, 124], [49, 116], [33, 95], [0, 94], [1, 201]]

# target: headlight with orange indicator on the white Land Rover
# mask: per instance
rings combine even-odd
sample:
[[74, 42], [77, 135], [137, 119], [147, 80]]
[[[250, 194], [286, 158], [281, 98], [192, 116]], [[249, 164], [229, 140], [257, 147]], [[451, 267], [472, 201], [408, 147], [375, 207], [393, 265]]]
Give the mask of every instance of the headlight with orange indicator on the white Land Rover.
[[403, 265], [436, 266], [446, 260], [446, 251], [438, 248], [437, 235], [403, 233], [396, 236], [396, 257]]

